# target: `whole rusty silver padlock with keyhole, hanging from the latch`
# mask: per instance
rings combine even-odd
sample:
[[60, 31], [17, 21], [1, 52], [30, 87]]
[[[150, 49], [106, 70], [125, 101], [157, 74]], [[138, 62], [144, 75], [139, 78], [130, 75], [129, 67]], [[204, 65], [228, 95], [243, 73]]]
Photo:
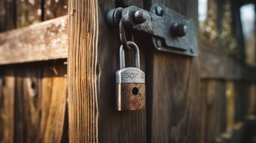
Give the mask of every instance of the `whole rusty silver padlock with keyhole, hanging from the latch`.
[[120, 70], [116, 71], [116, 110], [145, 108], [145, 74], [140, 70], [140, 54], [134, 42], [127, 42], [134, 49], [135, 67], [125, 67], [123, 45], [120, 47]]

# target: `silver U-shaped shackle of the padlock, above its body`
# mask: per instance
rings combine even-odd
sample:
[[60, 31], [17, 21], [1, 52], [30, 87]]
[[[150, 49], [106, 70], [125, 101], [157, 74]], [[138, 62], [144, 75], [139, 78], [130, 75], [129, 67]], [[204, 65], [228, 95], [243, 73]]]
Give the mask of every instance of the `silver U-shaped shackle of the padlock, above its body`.
[[[132, 49], [134, 49], [134, 55], [135, 55], [135, 67], [137, 69], [140, 69], [140, 52], [138, 51], [138, 46], [136, 43], [128, 41], [127, 44], [131, 46]], [[121, 45], [120, 51], [119, 51], [119, 58], [120, 58], [120, 70], [125, 69], [125, 51], [124, 46]]]

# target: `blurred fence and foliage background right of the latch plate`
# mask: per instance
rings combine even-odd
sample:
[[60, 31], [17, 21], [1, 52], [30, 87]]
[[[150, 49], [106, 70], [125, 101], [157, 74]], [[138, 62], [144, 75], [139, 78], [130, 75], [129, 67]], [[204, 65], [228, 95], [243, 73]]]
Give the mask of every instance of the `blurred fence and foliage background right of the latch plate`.
[[255, 1], [199, 0], [198, 20], [206, 142], [256, 142]]

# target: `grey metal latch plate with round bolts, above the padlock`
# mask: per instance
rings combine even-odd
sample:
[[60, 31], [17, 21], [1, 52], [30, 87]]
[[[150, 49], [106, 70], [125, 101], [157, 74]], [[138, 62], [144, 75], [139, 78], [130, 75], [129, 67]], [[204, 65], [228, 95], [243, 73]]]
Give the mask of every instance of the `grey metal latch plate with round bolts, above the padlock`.
[[109, 10], [107, 23], [114, 29], [122, 20], [127, 29], [137, 30], [152, 36], [153, 44], [159, 51], [197, 56], [195, 24], [192, 19], [170, 10], [160, 4], [154, 4], [150, 12], [130, 6]]

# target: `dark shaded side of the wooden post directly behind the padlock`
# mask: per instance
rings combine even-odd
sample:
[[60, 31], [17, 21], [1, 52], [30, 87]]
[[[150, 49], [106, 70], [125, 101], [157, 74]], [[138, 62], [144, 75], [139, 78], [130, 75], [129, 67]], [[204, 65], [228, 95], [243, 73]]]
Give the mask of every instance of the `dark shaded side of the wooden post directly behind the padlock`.
[[[115, 7], [113, 2], [104, 0], [99, 2], [101, 30], [98, 36], [98, 51], [100, 51], [98, 52], [98, 74], [100, 75], [98, 142], [146, 142], [146, 110], [115, 110], [115, 72], [119, 69], [121, 43], [119, 33], [107, 27], [104, 20], [105, 12]], [[103, 4], [104, 7], [102, 7]], [[132, 1], [130, 4], [141, 7], [143, 1]], [[134, 36], [135, 43], [140, 49], [140, 67], [145, 71], [144, 50], [147, 47], [141, 36]], [[132, 51], [125, 52], [125, 63], [127, 67], [134, 66]]]

